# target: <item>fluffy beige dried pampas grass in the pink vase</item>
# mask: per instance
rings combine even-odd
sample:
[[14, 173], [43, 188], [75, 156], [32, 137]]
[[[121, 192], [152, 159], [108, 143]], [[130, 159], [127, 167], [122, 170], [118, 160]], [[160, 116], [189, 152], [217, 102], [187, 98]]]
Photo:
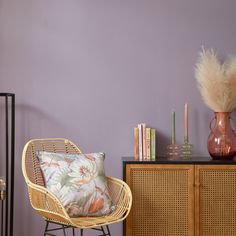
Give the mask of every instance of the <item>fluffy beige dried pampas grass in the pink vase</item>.
[[220, 63], [213, 49], [202, 49], [195, 76], [202, 98], [215, 112], [236, 107], [236, 58]]

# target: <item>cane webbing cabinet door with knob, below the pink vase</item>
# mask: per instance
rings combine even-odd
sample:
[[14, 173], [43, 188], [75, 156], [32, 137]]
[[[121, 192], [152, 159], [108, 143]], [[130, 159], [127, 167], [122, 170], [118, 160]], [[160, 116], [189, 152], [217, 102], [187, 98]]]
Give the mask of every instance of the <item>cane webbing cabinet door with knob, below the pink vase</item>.
[[236, 165], [196, 165], [196, 236], [236, 235]]

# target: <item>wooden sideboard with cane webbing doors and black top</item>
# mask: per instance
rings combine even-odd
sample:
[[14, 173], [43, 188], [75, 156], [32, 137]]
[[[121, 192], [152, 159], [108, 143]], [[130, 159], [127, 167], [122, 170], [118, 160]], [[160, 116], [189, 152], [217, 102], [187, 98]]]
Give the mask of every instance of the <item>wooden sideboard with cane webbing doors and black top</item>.
[[123, 158], [133, 205], [124, 236], [235, 236], [236, 161]]

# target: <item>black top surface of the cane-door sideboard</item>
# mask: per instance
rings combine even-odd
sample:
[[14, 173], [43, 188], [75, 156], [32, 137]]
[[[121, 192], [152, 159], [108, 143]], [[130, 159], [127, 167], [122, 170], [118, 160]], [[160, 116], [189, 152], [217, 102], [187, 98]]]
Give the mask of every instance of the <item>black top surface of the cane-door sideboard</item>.
[[236, 165], [236, 158], [233, 160], [213, 160], [211, 157], [178, 157], [168, 159], [167, 157], [157, 157], [155, 161], [135, 160], [134, 157], [122, 157], [123, 164], [212, 164], [212, 165]]

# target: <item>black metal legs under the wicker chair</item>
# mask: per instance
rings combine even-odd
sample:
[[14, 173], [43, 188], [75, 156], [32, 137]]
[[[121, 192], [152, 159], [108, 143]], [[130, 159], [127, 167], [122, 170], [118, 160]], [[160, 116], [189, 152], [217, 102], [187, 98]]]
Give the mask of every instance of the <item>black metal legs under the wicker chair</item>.
[[[58, 225], [59, 227], [57, 228], [52, 228], [52, 229], [49, 229], [49, 224], [55, 224], [55, 225]], [[70, 225], [64, 225], [64, 224], [60, 224], [60, 223], [56, 223], [54, 221], [50, 221], [50, 220], [46, 220], [46, 226], [45, 226], [45, 230], [44, 230], [44, 236], [47, 236], [47, 235], [50, 235], [50, 236], [56, 236], [56, 234], [52, 234], [51, 232], [53, 231], [57, 231], [57, 230], [63, 230], [63, 234], [64, 236], [66, 236], [66, 229], [72, 229], [72, 235], [75, 236], [75, 229], [78, 229], [78, 228], [75, 228], [73, 226], [70, 226]], [[103, 234], [100, 234], [98, 236], [111, 236], [111, 233], [110, 233], [110, 229], [109, 229], [109, 226], [106, 225], [106, 230], [104, 229], [103, 226], [101, 226], [101, 228], [91, 228], [93, 230], [98, 230], [98, 231], [101, 231]], [[107, 231], [107, 233], [105, 232]], [[84, 233], [84, 229], [80, 229], [80, 236], [83, 236], [83, 233]]]

